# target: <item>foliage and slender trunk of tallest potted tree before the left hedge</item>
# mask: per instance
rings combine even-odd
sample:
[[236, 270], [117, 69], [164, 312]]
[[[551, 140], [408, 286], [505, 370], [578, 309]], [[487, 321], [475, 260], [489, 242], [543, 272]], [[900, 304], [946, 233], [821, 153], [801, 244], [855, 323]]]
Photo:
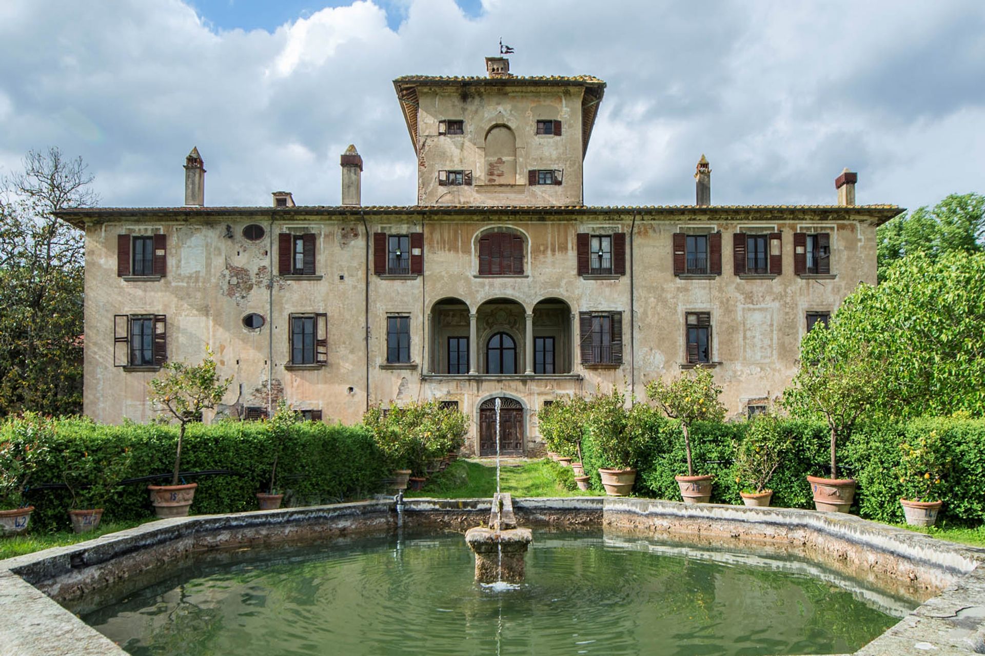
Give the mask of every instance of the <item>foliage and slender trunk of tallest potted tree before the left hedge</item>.
[[223, 400], [232, 377], [222, 380], [216, 372], [212, 351], [205, 350], [205, 359], [197, 365], [165, 362], [164, 372], [151, 380], [151, 402], [159, 412], [168, 412], [178, 422], [178, 444], [174, 456], [171, 485], [178, 484], [181, 471], [181, 443], [185, 429], [193, 421], [202, 421], [202, 411], [211, 410]]

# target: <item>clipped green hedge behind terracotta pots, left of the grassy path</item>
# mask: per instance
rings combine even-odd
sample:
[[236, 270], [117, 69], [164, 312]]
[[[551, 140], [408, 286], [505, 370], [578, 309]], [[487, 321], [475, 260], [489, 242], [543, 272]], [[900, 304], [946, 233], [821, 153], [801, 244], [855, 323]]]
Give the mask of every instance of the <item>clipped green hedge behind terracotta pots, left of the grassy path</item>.
[[[125, 447], [133, 455], [126, 478], [166, 474], [174, 466], [177, 428], [127, 423], [105, 426], [87, 419], [64, 419], [45, 424], [44, 443], [48, 451], [33, 473], [25, 494], [35, 507], [34, 530], [67, 528], [70, 495], [65, 489], [32, 489], [44, 483], [60, 483], [62, 461], [82, 457], [83, 452], [100, 449], [115, 452]], [[0, 441], [9, 424], [0, 425]], [[372, 438], [360, 426], [347, 427], [321, 422], [296, 424], [283, 443], [278, 463], [277, 486], [287, 489], [285, 501], [293, 506], [338, 502], [364, 498], [381, 489], [386, 475], [383, 458]], [[257, 508], [256, 493], [266, 492], [274, 448], [266, 424], [221, 422], [191, 424], [181, 452], [182, 471], [227, 469], [233, 475], [203, 476], [189, 479], [198, 483], [194, 514], [238, 512]], [[161, 479], [155, 484], [168, 484]], [[140, 519], [153, 514], [147, 482], [128, 484], [107, 504], [103, 517]]]

